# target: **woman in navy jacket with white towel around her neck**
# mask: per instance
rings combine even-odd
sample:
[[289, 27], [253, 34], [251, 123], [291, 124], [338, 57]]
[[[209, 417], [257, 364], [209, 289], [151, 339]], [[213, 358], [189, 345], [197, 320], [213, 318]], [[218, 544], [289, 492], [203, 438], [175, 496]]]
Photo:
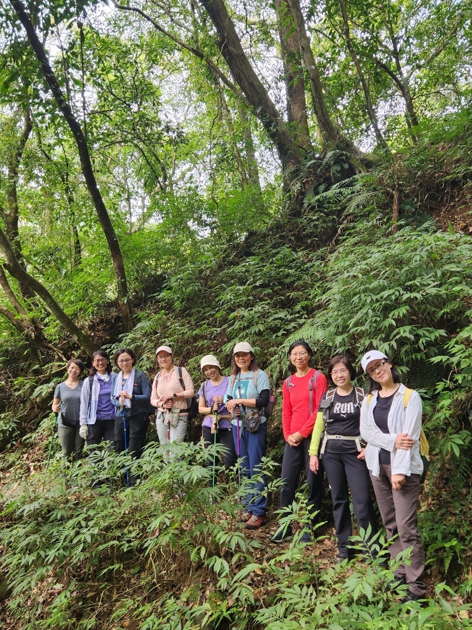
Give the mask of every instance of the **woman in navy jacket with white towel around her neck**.
[[118, 412], [115, 418], [115, 450], [117, 453], [123, 452], [126, 446], [133, 458], [138, 459], [144, 448], [149, 424], [149, 380], [144, 372], [135, 369], [136, 355], [130, 348], [116, 350], [113, 363], [120, 370], [114, 379], [111, 394], [111, 401]]

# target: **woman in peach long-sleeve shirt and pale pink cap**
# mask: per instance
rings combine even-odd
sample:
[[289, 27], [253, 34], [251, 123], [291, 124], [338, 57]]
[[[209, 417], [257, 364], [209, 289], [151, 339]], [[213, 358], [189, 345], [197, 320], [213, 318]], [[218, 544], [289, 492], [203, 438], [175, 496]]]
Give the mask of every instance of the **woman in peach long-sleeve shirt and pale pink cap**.
[[160, 371], [152, 383], [151, 404], [157, 407], [155, 426], [159, 443], [183, 442], [195, 393], [193, 382], [184, 367], [174, 365], [169, 346], [159, 346], [155, 353]]

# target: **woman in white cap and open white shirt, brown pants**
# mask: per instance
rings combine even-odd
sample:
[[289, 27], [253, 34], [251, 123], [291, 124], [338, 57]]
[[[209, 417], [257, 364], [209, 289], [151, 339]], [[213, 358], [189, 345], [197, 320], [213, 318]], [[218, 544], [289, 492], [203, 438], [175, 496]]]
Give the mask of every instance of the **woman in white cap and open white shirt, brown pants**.
[[[396, 582], [407, 584], [402, 604], [425, 595], [425, 557], [418, 530], [418, 504], [423, 462], [420, 456], [422, 402], [418, 392], [400, 382], [395, 365], [383, 352], [371, 350], [361, 360], [369, 377], [369, 394], [361, 408], [361, 435], [366, 440], [369, 469], [390, 556], [412, 547], [410, 563], [395, 569]], [[371, 396], [370, 396], [371, 394]]]

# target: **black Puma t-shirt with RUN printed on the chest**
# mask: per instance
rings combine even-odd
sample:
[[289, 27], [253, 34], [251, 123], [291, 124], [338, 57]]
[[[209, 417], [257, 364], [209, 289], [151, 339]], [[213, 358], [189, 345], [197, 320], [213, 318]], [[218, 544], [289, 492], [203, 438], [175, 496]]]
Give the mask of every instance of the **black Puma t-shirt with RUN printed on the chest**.
[[[324, 396], [323, 396], [324, 398]], [[356, 389], [352, 389], [348, 396], [340, 396], [336, 391], [329, 408], [329, 422], [325, 432], [329, 435], [360, 435], [361, 406], [357, 404]], [[358, 452], [354, 440], [328, 440], [325, 447], [330, 453]]]

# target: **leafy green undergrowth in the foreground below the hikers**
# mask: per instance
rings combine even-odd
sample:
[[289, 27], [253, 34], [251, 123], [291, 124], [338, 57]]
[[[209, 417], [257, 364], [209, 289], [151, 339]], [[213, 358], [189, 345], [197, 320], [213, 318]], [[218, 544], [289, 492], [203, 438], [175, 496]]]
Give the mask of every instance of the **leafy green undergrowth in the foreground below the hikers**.
[[[468, 627], [468, 607], [447, 602], [444, 584], [426, 607], [402, 607], [385, 590], [393, 573], [376, 559], [322, 570], [316, 555], [306, 555], [301, 531], [284, 551], [260, 549], [235, 524], [233, 479], [210, 488], [208, 454], [173, 445], [178, 459], [166, 465], [166, 449], [150, 445], [140, 462], [128, 462], [142, 476], [130, 490], [118, 484], [94, 496], [91, 469], [75, 464], [63, 481], [58, 465], [3, 496], [2, 564], [18, 630], [142, 629], [156, 619], [169, 630], [223, 620], [241, 629]], [[123, 465], [110, 455], [108, 479], [117, 481]], [[303, 501], [291, 518], [306, 520]], [[362, 537], [356, 541], [361, 549]], [[385, 549], [382, 539], [377, 544]]]

